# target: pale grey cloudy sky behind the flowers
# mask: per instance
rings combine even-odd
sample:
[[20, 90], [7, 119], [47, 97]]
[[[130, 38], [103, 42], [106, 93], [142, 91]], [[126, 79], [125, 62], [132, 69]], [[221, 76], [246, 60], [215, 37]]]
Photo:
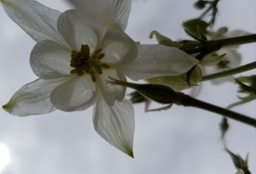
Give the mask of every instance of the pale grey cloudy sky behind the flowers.
[[[64, 12], [70, 6], [61, 0], [41, 0]], [[200, 15], [195, 1], [133, 1], [126, 33], [141, 43], [157, 30], [173, 40], [189, 38], [181, 23]], [[256, 32], [255, 0], [220, 1], [214, 29]], [[29, 67], [35, 42], [4, 13], [0, 6], [0, 104], [6, 104], [22, 85], [36, 79]], [[242, 64], [255, 61], [255, 43], [239, 48]], [[253, 71], [245, 73], [252, 74]], [[255, 72], [255, 71], [254, 71]], [[198, 99], [225, 107], [237, 100], [236, 86], [202, 83]], [[8, 146], [11, 161], [1, 174], [139, 174], [139, 173], [236, 173], [224, 152], [218, 129], [221, 116], [193, 108], [173, 106], [169, 111], [144, 113], [143, 104], [134, 105], [136, 131], [134, 159], [123, 154], [94, 131], [92, 108], [65, 113], [20, 118], [0, 109], [0, 143]], [[234, 108], [255, 116], [255, 102]], [[256, 173], [255, 129], [230, 120], [227, 146], [243, 158], [249, 152], [249, 167]]]

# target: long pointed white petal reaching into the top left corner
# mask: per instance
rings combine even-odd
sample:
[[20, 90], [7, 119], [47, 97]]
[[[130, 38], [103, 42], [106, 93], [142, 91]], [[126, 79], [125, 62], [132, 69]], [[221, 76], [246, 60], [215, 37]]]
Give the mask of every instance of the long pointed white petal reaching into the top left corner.
[[36, 42], [54, 40], [67, 45], [57, 30], [61, 12], [32, 0], [2, 0], [5, 12]]

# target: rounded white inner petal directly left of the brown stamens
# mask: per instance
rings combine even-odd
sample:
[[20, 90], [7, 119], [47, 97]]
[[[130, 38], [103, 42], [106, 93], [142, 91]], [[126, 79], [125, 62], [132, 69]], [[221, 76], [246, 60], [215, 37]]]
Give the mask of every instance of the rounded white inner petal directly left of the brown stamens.
[[70, 75], [71, 51], [51, 40], [36, 43], [30, 56], [33, 72], [42, 79]]

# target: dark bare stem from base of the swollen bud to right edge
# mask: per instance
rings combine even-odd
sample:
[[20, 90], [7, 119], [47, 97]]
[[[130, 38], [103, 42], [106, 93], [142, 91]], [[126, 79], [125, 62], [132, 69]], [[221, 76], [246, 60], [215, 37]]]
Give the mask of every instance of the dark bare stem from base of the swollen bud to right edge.
[[193, 106], [193, 107], [198, 107], [200, 109], [204, 109], [207, 111], [211, 111], [213, 113], [218, 113], [220, 115], [226, 116], [227, 118], [232, 118], [234, 120], [237, 120], [239, 122], [246, 123], [248, 125], [251, 125], [253, 127], [256, 127], [256, 120], [253, 118], [250, 118], [245, 115], [241, 115], [239, 113], [235, 113], [233, 111], [230, 111], [228, 109], [224, 109], [219, 106], [215, 106], [213, 104], [209, 104], [197, 99], [194, 99], [193, 97], [190, 97], [189, 95], [184, 95], [182, 97], [182, 104], [184, 106]]

